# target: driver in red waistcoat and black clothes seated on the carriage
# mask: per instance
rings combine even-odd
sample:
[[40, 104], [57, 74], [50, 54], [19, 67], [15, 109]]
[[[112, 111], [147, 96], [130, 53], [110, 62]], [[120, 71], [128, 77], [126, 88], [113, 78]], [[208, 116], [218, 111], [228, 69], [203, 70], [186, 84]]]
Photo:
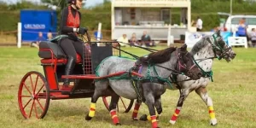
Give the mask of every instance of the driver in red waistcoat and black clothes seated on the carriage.
[[[67, 0], [68, 6], [62, 10], [61, 14], [61, 35], [67, 35], [68, 38], [62, 38], [60, 46], [67, 55], [67, 65], [65, 67], [65, 75], [73, 72], [75, 62], [77, 61], [77, 53], [83, 56], [84, 44], [78, 38], [78, 34], [84, 35], [87, 32], [86, 27], [80, 27], [81, 13], [79, 9], [82, 7], [83, 0]], [[63, 89], [69, 85], [69, 79], [64, 79]]]

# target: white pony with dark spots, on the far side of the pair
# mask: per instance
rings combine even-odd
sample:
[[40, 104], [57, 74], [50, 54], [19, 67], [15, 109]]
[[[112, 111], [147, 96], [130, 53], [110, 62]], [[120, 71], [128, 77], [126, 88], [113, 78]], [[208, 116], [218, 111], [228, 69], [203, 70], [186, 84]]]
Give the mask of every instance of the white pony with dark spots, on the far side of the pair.
[[[234, 59], [236, 53], [228, 47], [223, 38], [220, 36], [220, 32], [216, 32], [211, 36], [202, 38], [190, 51], [191, 55], [194, 56], [195, 61], [198, 66], [201, 67], [202, 77], [198, 80], [188, 80], [189, 77], [185, 75], [177, 75], [176, 88], [169, 88], [170, 90], [181, 90], [180, 96], [177, 102], [177, 108], [170, 119], [172, 125], [177, 121], [177, 116], [183, 107], [183, 102], [189, 96], [189, 93], [193, 90], [201, 96], [203, 102], [206, 103], [210, 114], [210, 124], [217, 125], [217, 119], [215, 118], [215, 113], [213, 110], [212, 98], [207, 94], [207, 84], [211, 80], [212, 74], [212, 64], [213, 58], [218, 58], [219, 60], [224, 58], [226, 61]], [[187, 80], [187, 81], [186, 81]], [[137, 112], [137, 107], [135, 106], [135, 111]]]

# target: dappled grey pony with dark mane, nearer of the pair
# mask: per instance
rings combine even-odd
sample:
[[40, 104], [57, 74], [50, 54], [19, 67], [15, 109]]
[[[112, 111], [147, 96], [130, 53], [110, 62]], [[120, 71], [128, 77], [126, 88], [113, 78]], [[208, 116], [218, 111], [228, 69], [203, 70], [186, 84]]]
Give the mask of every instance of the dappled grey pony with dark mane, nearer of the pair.
[[[102, 61], [98, 66], [96, 74], [100, 77], [109, 74], [127, 71], [126, 77], [118, 76], [108, 79], [102, 79], [95, 82], [95, 92], [91, 98], [90, 112], [85, 119], [90, 120], [95, 116], [96, 101], [100, 96], [111, 96], [109, 110], [113, 119], [114, 125], [119, 125], [119, 119], [116, 115], [116, 106], [119, 102], [119, 96], [127, 99], [138, 99], [142, 97], [143, 102], [148, 106], [149, 113], [152, 119], [152, 127], [157, 127], [155, 108], [161, 111], [160, 96], [166, 91], [165, 82], [171, 73], [184, 72], [192, 79], [201, 78], [201, 70], [195, 66], [192, 55], [187, 51], [187, 46], [181, 48], [167, 48], [155, 53], [151, 53], [148, 57], [139, 59], [143, 66], [140, 69], [140, 74], [143, 77], [139, 78], [129, 76], [131, 68], [135, 67], [135, 62], [126, 58], [111, 56]], [[185, 67], [180, 68], [180, 66]], [[179, 70], [180, 69], [180, 70]], [[185, 71], [182, 71], [185, 70]], [[178, 71], [177, 71], [178, 70]], [[132, 84], [137, 80], [137, 86]]]

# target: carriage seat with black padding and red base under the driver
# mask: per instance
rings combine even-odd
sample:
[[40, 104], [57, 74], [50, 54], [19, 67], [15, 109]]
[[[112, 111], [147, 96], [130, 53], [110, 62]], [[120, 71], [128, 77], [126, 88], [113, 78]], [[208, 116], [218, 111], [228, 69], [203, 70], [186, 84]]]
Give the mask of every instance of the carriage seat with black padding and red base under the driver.
[[[67, 56], [58, 44], [48, 41], [41, 42], [39, 44], [38, 56], [43, 58], [42, 63], [67, 63]], [[54, 59], [52, 59], [54, 58]], [[82, 63], [81, 56], [77, 54], [76, 63]]]

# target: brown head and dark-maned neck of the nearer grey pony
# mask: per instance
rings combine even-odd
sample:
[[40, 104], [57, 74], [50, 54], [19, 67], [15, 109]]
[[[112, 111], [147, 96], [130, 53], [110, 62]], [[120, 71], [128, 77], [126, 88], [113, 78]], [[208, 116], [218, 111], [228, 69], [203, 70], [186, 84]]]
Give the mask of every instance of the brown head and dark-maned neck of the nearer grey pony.
[[[171, 57], [172, 56], [172, 57]], [[201, 70], [196, 67], [194, 63], [193, 56], [188, 52], [187, 45], [184, 44], [181, 48], [170, 47], [167, 49], [162, 49], [158, 52], [150, 53], [147, 56], [140, 57], [136, 62], [136, 65], [143, 64], [160, 64], [166, 61], [172, 61], [175, 63], [175, 69], [170, 69], [167, 67], [167, 70], [173, 71], [176, 70], [177, 73], [184, 73], [189, 76], [191, 79], [200, 79], [201, 78]], [[158, 67], [160, 67], [158, 65]]]

